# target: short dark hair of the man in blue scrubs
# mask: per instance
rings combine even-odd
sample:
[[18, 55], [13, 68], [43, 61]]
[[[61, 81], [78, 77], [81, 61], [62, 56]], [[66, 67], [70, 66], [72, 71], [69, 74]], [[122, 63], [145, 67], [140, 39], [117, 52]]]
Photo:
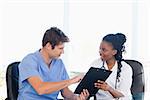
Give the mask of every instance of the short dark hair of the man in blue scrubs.
[[44, 47], [48, 42], [52, 45], [52, 49], [54, 49], [60, 42], [69, 42], [69, 38], [59, 28], [51, 27], [46, 30], [43, 36], [42, 46]]

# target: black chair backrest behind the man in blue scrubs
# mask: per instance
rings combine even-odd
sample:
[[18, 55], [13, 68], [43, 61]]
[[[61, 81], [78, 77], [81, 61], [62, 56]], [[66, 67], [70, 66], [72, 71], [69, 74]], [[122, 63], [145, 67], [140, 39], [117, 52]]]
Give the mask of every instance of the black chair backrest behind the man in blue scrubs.
[[7, 98], [6, 100], [17, 100], [18, 97], [18, 65], [20, 62], [14, 62], [8, 65], [6, 71]]

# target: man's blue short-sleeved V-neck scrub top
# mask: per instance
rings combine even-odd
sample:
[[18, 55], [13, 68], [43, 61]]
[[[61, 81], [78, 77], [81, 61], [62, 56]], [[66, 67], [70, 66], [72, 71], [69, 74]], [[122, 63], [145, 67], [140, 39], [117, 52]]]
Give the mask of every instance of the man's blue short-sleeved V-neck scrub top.
[[19, 64], [18, 100], [57, 100], [60, 91], [38, 95], [27, 79], [39, 76], [44, 82], [58, 82], [69, 79], [61, 59], [53, 59], [50, 68], [44, 62], [39, 51], [27, 55]]

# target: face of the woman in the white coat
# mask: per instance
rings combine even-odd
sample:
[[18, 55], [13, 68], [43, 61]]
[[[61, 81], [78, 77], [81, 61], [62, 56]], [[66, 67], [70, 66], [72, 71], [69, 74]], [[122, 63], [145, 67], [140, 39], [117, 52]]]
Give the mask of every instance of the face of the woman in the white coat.
[[107, 61], [114, 58], [114, 55], [117, 53], [117, 50], [113, 48], [111, 43], [107, 41], [102, 41], [100, 44], [99, 53], [101, 59]]

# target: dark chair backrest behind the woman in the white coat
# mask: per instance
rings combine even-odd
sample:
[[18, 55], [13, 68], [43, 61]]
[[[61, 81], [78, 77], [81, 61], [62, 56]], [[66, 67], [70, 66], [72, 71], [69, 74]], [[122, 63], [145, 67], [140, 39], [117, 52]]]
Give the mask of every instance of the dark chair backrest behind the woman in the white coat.
[[133, 71], [131, 93], [133, 100], [144, 100], [145, 81], [143, 65], [136, 60], [124, 60]]

